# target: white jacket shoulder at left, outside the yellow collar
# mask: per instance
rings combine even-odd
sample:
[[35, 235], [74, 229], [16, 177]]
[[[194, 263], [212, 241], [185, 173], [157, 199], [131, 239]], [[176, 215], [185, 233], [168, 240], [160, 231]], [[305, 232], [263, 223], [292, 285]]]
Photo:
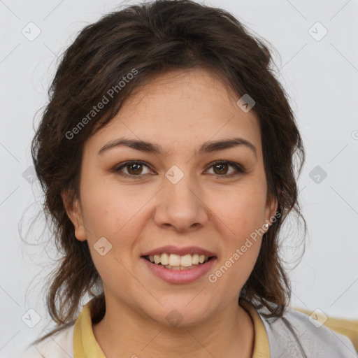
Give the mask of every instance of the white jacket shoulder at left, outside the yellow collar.
[[73, 358], [73, 329], [70, 327], [58, 331], [37, 345], [30, 345], [22, 358]]

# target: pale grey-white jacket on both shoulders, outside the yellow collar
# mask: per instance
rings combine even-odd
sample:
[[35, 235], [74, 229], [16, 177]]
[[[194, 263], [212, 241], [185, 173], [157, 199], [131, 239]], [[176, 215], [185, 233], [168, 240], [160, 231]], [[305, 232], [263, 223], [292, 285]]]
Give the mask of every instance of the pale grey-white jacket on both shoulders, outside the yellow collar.
[[[285, 314], [275, 321], [262, 316], [262, 313], [268, 313], [267, 308], [258, 310], [258, 313], [264, 322], [271, 358], [358, 357], [348, 337], [325, 326], [315, 327], [304, 313], [287, 308]], [[31, 346], [21, 358], [74, 358], [73, 328], [74, 324], [39, 345]]]

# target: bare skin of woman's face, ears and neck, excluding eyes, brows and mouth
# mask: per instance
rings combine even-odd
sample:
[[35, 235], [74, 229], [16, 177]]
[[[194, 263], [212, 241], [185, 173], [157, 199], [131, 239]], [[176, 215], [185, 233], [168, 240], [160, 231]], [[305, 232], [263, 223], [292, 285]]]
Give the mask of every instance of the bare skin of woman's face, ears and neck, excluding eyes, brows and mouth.
[[[106, 315], [93, 330], [107, 358], [252, 356], [255, 332], [238, 296], [262, 238], [216, 282], [208, 280], [277, 210], [266, 200], [259, 122], [253, 110], [236, 105], [239, 97], [203, 69], [165, 73], [139, 87], [85, 143], [80, 197], [67, 212], [103, 280]], [[165, 154], [127, 146], [98, 154], [123, 137], [161, 145]], [[234, 137], [255, 145], [256, 156], [245, 145], [196, 154], [206, 141]], [[113, 170], [129, 160], [148, 166]], [[240, 164], [245, 173], [229, 177], [236, 172], [231, 165], [215, 171], [216, 160]], [[176, 184], [165, 176], [174, 165], [184, 174]], [[104, 256], [94, 249], [101, 237], [112, 245]], [[217, 261], [199, 280], [170, 284], [140, 259], [163, 245], [196, 245]], [[182, 316], [177, 327], [166, 320], [173, 309]]]

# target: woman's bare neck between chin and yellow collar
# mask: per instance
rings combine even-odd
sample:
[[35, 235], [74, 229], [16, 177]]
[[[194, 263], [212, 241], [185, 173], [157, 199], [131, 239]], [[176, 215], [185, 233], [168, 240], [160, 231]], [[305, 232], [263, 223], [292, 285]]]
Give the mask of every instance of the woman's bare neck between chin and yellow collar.
[[106, 358], [252, 357], [254, 326], [237, 303], [210, 319], [188, 327], [167, 327], [128, 306], [106, 300], [106, 314], [93, 325], [96, 341]]

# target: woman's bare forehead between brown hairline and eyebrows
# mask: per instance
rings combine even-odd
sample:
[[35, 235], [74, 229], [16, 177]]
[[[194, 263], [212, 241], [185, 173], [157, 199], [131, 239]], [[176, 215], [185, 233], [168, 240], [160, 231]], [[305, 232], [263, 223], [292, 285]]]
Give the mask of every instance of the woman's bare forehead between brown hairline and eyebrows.
[[239, 98], [219, 76], [203, 69], [163, 73], [137, 87], [89, 142], [100, 145], [125, 136], [160, 143], [169, 154], [183, 146], [241, 136], [260, 150], [257, 115], [238, 107]]

